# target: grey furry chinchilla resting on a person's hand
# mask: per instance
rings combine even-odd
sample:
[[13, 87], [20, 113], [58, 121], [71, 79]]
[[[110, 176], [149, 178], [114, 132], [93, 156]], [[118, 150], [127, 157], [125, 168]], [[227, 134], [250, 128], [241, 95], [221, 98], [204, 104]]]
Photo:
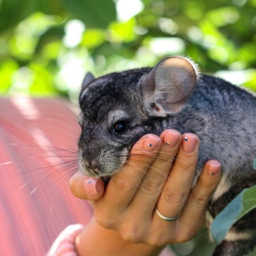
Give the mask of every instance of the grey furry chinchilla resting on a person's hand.
[[[204, 163], [217, 159], [222, 177], [208, 207], [214, 218], [243, 188], [256, 184], [256, 97], [209, 75], [193, 62], [168, 57], [154, 68], [95, 79], [85, 76], [79, 97], [82, 127], [79, 162], [86, 176], [111, 176], [144, 134], [164, 129], [200, 138], [194, 184]], [[256, 244], [256, 209], [229, 230], [215, 256], [241, 256]]]

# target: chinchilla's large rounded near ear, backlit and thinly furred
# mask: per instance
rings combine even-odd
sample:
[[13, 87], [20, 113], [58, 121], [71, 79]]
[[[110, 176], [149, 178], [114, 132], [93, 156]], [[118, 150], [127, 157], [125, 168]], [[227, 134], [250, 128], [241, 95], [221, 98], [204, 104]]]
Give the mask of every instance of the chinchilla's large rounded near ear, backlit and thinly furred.
[[174, 56], [161, 60], [142, 77], [141, 87], [146, 113], [166, 117], [178, 112], [193, 92], [197, 68], [190, 60]]

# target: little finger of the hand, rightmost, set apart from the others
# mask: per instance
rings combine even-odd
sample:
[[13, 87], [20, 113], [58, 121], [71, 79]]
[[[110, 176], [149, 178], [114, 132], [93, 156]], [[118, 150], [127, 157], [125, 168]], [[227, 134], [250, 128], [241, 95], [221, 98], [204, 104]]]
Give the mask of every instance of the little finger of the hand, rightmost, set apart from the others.
[[[195, 187], [189, 194], [187, 203], [183, 209], [180, 221], [183, 228], [180, 233], [188, 233], [194, 230], [194, 234], [205, 223], [205, 209], [207, 208], [210, 195], [220, 181], [221, 164], [217, 160], [209, 160], [204, 165]], [[191, 216], [197, 216], [191, 221]]]

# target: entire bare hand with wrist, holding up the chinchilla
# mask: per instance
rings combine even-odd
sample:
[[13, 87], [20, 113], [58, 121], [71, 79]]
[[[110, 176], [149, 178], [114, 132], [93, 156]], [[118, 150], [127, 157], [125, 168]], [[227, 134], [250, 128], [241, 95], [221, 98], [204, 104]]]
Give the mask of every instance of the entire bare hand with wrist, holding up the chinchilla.
[[[199, 144], [191, 133], [147, 134], [106, 188], [100, 179], [73, 176], [72, 193], [89, 200], [94, 209], [76, 238], [77, 253], [151, 256], [168, 243], [191, 240], [205, 224], [205, 208], [221, 176], [221, 164], [209, 160], [191, 189]], [[164, 216], [179, 218], [164, 221], [156, 207]]]

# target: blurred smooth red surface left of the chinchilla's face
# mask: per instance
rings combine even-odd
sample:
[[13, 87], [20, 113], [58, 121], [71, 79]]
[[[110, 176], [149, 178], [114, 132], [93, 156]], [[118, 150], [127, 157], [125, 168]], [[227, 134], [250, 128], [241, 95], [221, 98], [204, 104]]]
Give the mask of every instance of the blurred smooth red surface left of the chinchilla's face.
[[89, 220], [68, 188], [79, 133], [63, 100], [0, 98], [0, 255], [44, 255], [66, 226]]

